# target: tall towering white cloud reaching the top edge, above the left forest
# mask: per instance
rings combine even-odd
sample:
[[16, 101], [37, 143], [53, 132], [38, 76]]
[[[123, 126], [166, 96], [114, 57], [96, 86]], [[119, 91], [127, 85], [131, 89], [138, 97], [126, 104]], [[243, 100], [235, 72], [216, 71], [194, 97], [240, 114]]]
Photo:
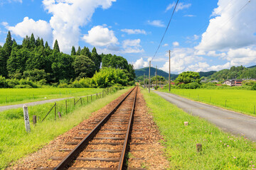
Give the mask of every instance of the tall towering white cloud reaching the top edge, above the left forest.
[[53, 14], [50, 26], [53, 28], [53, 40], [58, 40], [60, 50], [70, 53], [72, 45], [78, 46], [80, 27], [90, 22], [95, 8], [110, 8], [114, 1], [43, 0], [45, 10]]

